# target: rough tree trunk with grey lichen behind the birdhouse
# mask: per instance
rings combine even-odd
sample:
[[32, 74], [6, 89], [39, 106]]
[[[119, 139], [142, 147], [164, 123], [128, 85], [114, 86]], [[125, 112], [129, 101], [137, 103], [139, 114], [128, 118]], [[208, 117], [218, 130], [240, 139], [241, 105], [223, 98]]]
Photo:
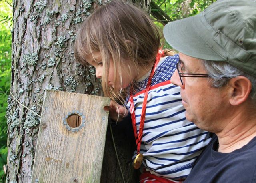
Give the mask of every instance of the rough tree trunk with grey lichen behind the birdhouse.
[[[102, 95], [94, 68], [80, 66], [74, 60], [73, 47], [83, 20], [103, 3], [100, 0], [13, 1], [12, 83], [6, 115], [7, 182], [31, 182], [38, 115], [45, 89]], [[135, 4], [149, 11], [149, 1], [145, 4], [144, 0], [136, 0]], [[134, 183], [137, 181], [137, 172], [131, 166], [134, 144], [120, 131], [113, 130], [113, 133], [124, 179]], [[121, 183], [109, 127], [106, 138], [101, 182]]]

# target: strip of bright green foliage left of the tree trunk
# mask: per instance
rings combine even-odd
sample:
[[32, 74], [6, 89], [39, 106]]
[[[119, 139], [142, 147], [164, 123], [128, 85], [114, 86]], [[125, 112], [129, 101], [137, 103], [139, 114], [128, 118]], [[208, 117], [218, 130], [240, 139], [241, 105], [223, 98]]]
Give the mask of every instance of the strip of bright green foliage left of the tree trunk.
[[11, 80], [12, 1], [0, 0], [0, 183], [5, 182], [7, 161], [6, 107]]

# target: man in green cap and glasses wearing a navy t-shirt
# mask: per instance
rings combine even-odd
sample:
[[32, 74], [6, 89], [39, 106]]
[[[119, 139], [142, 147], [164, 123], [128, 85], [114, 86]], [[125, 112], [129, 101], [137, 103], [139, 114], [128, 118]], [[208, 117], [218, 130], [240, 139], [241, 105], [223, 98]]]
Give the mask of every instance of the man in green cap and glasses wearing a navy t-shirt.
[[216, 134], [185, 182], [256, 182], [256, 0], [218, 0], [164, 36], [186, 118]]

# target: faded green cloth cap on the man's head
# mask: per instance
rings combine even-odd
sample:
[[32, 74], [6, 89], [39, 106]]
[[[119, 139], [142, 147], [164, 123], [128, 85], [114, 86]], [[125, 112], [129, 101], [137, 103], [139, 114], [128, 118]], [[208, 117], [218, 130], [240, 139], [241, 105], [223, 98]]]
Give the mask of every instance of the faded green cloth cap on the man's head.
[[164, 26], [176, 50], [228, 62], [256, 77], [256, 0], [218, 0], [200, 14]]

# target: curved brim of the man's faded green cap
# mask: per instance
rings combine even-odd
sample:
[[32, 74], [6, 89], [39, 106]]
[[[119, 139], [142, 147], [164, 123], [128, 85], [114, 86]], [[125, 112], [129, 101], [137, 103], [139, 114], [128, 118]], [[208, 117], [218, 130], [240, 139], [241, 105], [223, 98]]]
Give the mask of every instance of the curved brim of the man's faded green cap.
[[202, 13], [193, 17], [170, 22], [164, 26], [164, 37], [178, 52], [203, 60], [224, 61], [211, 45], [212, 33], [202, 22]]

